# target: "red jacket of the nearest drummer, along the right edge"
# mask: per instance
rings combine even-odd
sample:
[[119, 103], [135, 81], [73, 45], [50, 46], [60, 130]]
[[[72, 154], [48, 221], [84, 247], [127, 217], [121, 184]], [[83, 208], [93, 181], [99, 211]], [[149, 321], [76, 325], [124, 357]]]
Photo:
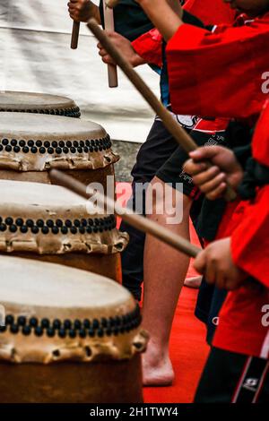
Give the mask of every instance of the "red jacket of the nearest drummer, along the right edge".
[[[252, 150], [254, 159], [269, 168], [269, 101], [256, 126]], [[229, 293], [221, 308], [213, 345], [268, 358], [269, 317], [265, 312], [269, 313], [269, 185], [258, 189], [254, 201], [240, 202], [229, 224], [224, 223], [220, 229], [219, 237], [231, 236], [233, 261], [264, 288], [243, 286]]]

